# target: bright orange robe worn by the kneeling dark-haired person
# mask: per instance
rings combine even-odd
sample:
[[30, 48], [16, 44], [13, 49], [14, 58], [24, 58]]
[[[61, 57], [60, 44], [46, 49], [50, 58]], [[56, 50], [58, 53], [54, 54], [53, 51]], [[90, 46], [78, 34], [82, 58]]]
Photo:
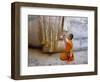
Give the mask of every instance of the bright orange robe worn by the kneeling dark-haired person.
[[61, 53], [60, 59], [67, 62], [73, 61], [74, 55], [72, 53], [72, 48], [73, 48], [72, 40], [67, 40], [65, 46], [66, 46], [65, 51]]

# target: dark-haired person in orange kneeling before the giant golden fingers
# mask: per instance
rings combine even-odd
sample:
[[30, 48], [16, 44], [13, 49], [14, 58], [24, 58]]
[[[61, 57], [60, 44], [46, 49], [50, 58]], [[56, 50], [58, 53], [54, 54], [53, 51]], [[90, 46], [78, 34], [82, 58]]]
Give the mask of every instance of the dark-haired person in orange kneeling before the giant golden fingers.
[[63, 38], [64, 38], [64, 42], [65, 42], [65, 51], [63, 53], [61, 53], [60, 59], [62, 61], [67, 61], [67, 63], [70, 63], [70, 62], [72, 62], [74, 60], [74, 55], [73, 55], [73, 52], [72, 52], [73, 34], [69, 34], [68, 37], [66, 37], [64, 35]]

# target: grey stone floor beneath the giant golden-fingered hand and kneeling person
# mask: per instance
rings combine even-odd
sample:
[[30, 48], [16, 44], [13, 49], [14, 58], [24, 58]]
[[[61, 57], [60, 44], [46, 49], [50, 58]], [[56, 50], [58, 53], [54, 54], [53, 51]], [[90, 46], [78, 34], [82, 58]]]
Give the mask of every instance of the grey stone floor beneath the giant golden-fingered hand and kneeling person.
[[[71, 64], [87, 64], [87, 50], [75, 51], [75, 60]], [[59, 59], [60, 53], [44, 54], [41, 50], [29, 48], [28, 66], [67, 65]]]

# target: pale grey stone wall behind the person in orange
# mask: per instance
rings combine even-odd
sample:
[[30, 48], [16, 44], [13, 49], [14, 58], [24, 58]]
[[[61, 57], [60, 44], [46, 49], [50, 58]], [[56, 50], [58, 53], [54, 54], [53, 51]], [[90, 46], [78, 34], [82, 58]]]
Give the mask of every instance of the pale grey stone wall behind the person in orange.
[[88, 45], [88, 18], [64, 17], [64, 30], [74, 35], [75, 50], [87, 49]]

